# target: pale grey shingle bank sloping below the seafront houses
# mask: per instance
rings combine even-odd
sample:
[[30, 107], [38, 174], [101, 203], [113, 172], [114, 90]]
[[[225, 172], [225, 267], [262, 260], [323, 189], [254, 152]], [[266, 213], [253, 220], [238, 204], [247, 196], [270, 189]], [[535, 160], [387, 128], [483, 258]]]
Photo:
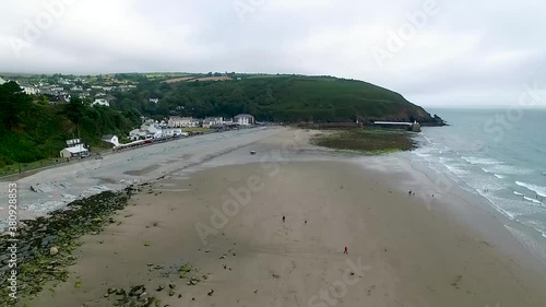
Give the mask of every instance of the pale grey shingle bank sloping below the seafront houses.
[[[19, 216], [33, 220], [68, 203], [106, 190], [122, 190], [131, 184], [145, 182], [163, 175], [199, 165], [226, 152], [276, 133], [281, 128], [256, 128], [210, 133], [146, 145], [61, 164], [0, 179], [0, 200], [8, 200], [8, 185], [17, 182]], [[0, 204], [0, 232], [9, 212]]]

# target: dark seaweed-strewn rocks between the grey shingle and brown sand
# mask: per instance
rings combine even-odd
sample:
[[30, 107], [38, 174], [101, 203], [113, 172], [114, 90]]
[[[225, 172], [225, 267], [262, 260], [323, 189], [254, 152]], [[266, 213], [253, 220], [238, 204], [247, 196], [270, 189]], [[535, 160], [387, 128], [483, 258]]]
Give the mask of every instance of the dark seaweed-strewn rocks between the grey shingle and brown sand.
[[[13, 245], [10, 234], [0, 237], [0, 306], [15, 303], [11, 288], [13, 270], [16, 272], [16, 297], [33, 297], [48, 282], [66, 281], [68, 267], [76, 258], [72, 251], [81, 245], [83, 235], [96, 235], [105, 225], [116, 223], [110, 217], [122, 210], [138, 188], [130, 186], [120, 192], [105, 191], [86, 199], [76, 200], [66, 210], [51, 212], [47, 217], [21, 221], [16, 234], [16, 267], [10, 265], [9, 252]], [[12, 261], [13, 262], [13, 261]], [[12, 280], [10, 280], [12, 279]]]

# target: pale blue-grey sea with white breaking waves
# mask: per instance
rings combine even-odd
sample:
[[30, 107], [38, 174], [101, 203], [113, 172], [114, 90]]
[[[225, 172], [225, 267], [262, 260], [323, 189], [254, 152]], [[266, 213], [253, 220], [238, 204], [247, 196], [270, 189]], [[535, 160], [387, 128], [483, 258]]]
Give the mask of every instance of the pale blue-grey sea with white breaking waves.
[[423, 128], [412, 155], [482, 197], [524, 245], [546, 251], [546, 109], [429, 111], [449, 126]]

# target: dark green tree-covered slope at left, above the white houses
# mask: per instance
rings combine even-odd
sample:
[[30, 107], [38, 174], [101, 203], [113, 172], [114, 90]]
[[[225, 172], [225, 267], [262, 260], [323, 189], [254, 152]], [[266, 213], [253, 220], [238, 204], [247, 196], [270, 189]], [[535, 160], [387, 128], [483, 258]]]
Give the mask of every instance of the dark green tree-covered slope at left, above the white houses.
[[80, 133], [86, 144], [105, 146], [100, 137], [127, 133], [140, 119], [74, 99], [51, 106], [33, 102], [15, 83], [0, 85], [0, 168], [59, 156], [66, 140]]

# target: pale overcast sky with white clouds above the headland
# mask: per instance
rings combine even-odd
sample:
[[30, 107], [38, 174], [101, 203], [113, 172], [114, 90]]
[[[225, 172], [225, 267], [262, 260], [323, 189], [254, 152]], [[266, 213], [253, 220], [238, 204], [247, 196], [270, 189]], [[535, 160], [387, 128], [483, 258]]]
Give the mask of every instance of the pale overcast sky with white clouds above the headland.
[[544, 12], [543, 0], [2, 0], [0, 72], [329, 74], [424, 106], [517, 105], [525, 84], [546, 87]]

